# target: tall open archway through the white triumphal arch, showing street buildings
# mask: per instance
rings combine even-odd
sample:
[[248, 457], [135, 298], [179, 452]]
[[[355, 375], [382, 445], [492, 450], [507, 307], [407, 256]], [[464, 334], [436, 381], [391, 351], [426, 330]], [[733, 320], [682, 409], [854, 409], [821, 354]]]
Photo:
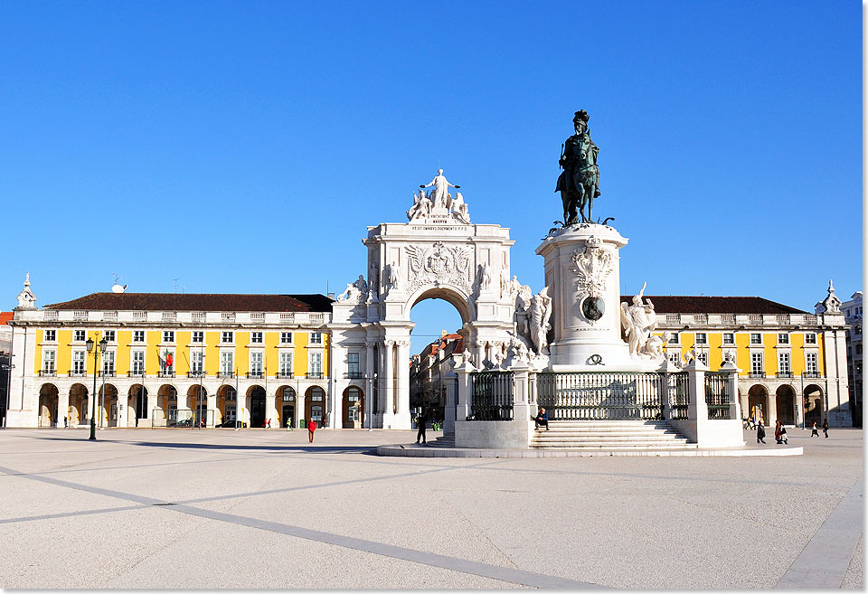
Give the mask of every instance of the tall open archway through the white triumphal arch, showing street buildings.
[[470, 319], [467, 304], [452, 291], [430, 289], [413, 304], [410, 319], [410, 418], [413, 427], [442, 424], [447, 379], [453, 354], [463, 353]]

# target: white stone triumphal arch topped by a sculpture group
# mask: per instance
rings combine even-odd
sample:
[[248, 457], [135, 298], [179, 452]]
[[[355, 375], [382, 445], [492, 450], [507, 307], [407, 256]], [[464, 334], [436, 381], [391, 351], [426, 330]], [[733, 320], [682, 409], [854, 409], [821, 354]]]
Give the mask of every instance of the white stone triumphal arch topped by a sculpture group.
[[455, 306], [458, 332], [477, 365], [499, 361], [514, 329], [514, 240], [505, 227], [471, 222], [459, 187], [440, 169], [413, 193], [407, 222], [368, 227], [367, 275], [337, 297], [332, 356], [337, 363], [350, 352], [364, 356], [359, 371], [346, 374], [358, 377], [336, 379], [335, 397], [352, 385], [365, 393], [363, 427], [410, 429], [410, 309], [420, 301]]

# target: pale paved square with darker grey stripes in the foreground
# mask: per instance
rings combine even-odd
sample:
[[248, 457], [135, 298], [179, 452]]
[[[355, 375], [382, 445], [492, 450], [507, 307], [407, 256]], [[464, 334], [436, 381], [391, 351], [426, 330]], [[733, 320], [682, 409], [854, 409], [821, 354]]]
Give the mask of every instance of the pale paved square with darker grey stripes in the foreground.
[[862, 430], [809, 433], [480, 459], [373, 456], [410, 431], [7, 429], [0, 586], [861, 589]]

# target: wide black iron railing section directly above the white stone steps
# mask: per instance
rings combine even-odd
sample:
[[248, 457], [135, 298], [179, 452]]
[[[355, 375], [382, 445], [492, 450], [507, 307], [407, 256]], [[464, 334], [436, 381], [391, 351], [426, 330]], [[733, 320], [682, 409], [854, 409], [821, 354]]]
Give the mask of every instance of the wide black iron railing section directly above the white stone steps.
[[660, 372], [536, 376], [536, 401], [545, 407], [549, 420], [663, 420], [665, 393], [665, 373]]

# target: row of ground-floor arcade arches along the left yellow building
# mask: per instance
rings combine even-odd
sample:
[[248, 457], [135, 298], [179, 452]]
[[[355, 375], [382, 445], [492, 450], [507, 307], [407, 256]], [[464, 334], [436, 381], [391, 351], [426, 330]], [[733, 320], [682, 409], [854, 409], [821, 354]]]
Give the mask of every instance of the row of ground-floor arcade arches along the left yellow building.
[[[193, 410], [194, 419], [206, 420], [207, 426], [233, 426], [237, 415], [238, 395], [231, 385], [218, 388], [216, 409], [211, 413], [208, 412], [209, 393], [200, 385], [191, 386], [181, 395], [174, 385], [161, 385], [156, 391], [155, 410], [148, 410], [150, 391], [140, 383], [130, 386], [126, 402], [123, 399], [118, 402], [118, 389], [111, 383], [98, 386], [96, 393], [97, 423], [102, 427], [137, 427], [139, 421], [153, 419], [155, 414], [172, 420], [178, 409]], [[39, 391], [40, 427], [75, 427], [90, 422], [90, 390], [84, 383], [71, 385], [66, 410], [59, 410], [60, 402], [57, 386], [43, 383]], [[286, 427], [289, 421], [297, 426], [301, 419], [315, 420], [317, 426], [322, 427], [327, 412], [325, 389], [317, 385], [308, 387], [302, 399], [298, 398], [292, 386], [280, 385], [269, 394], [263, 386], [252, 385], [245, 392], [241, 406], [249, 412], [250, 427], [263, 427], [269, 420], [271, 427]], [[346, 388], [341, 406], [344, 428], [363, 427], [364, 393], [361, 388]]]

